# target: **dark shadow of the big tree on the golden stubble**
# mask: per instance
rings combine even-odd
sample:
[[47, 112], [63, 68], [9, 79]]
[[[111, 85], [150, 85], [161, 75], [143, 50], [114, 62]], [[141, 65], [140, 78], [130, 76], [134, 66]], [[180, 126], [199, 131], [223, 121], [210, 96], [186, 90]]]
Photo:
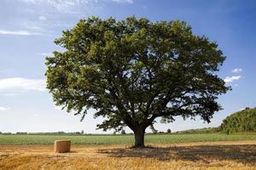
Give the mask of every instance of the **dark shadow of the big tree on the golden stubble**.
[[204, 161], [205, 163], [209, 163], [211, 160], [221, 160], [249, 163], [256, 166], [256, 144], [148, 147], [143, 149], [115, 148], [102, 149], [98, 152], [111, 157], [156, 158], [159, 161]]

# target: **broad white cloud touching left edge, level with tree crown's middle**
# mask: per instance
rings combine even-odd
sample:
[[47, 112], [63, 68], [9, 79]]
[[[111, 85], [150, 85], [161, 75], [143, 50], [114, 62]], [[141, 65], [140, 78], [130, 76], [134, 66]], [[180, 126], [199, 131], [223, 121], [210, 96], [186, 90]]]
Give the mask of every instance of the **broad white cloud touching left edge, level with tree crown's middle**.
[[28, 79], [22, 77], [11, 77], [0, 79], [0, 92], [9, 92], [10, 94], [23, 91], [44, 91], [44, 79]]

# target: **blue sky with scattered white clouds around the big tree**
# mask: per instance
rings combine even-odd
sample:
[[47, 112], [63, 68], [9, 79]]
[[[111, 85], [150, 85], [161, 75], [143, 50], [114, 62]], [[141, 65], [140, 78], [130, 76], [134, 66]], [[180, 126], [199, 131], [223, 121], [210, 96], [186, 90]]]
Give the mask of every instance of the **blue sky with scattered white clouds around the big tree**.
[[[117, 20], [184, 20], [197, 35], [218, 42], [227, 59], [218, 72], [233, 88], [219, 97], [224, 110], [207, 124], [177, 117], [156, 129], [172, 131], [217, 127], [224, 117], [256, 106], [256, 2], [253, 0], [2, 0], [0, 2], [0, 132], [102, 133], [93, 111], [79, 116], [60, 111], [44, 88], [45, 56], [56, 47], [61, 31], [91, 15]], [[127, 131], [128, 128], [126, 129]], [[108, 133], [110, 133], [109, 131]]]

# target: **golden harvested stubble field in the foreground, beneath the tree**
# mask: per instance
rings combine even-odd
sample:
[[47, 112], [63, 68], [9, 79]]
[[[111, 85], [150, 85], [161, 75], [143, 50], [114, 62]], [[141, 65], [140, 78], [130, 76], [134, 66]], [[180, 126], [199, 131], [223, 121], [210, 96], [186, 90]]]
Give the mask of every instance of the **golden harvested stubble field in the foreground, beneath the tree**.
[[0, 169], [256, 169], [256, 143], [75, 145], [55, 154], [49, 145], [2, 145]]

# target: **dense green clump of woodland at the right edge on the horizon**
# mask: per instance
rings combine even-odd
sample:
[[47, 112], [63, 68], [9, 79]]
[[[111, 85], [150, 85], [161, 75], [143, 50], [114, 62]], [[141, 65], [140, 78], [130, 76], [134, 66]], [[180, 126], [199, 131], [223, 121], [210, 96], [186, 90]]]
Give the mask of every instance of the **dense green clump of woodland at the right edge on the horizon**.
[[223, 133], [256, 132], [256, 108], [246, 108], [227, 116], [220, 126]]

